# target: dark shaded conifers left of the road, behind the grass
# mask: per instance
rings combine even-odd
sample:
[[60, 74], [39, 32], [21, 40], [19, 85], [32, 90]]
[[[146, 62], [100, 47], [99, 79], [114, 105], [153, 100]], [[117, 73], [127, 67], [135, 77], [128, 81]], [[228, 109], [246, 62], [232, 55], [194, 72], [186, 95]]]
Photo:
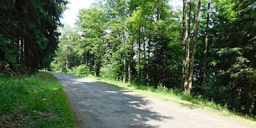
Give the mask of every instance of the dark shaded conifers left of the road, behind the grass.
[[0, 1], [0, 72], [48, 67], [58, 46], [65, 0]]

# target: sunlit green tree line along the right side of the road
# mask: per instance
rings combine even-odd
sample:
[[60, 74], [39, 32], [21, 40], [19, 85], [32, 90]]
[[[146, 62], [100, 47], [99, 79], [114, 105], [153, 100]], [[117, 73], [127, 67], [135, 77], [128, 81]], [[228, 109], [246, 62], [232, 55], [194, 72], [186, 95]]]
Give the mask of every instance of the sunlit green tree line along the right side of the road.
[[256, 114], [255, 0], [102, 0], [61, 28], [55, 70], [202, 95]]

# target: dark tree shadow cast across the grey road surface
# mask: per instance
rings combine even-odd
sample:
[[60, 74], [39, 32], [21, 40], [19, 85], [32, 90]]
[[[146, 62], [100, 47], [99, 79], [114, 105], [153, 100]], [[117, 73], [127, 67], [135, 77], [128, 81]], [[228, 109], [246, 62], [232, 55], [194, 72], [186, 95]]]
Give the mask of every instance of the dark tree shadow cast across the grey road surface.
[[54, 74], [63, 84], [65, 92], [79, 114], [81, 127], [159, 127], [159, 122], [173, 119], [161, 115], [150, 106], [150, 100], [141, 95], [90, 83], [79, 77]]

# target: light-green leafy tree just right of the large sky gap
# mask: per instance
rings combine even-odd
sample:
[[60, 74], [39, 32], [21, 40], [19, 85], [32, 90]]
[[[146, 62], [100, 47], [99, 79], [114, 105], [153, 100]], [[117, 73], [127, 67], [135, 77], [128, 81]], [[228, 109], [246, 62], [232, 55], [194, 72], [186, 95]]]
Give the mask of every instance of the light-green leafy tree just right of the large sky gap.
[[78, 54], [85, 58], [86, 65], [94, 72], [95, 76], [99, 76], [102, 58], [104, 54], [104, 40], [106, 13], [97, 8], [81, 10], [79, 19], [76, 24], [79, 31], [82, 32], [82, 42], [79, 47]]

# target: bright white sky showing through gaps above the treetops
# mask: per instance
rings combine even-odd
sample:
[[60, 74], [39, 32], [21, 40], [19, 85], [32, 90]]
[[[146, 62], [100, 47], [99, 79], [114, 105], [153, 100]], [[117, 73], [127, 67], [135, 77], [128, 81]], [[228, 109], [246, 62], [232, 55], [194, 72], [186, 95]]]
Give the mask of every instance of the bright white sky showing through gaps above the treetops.
[[[95, 2], [95, 0], [68, 0], [70, 4], [67, 5], [68, 9], [63, 12], [63, 19], [61, 19], [62, 24], [68, 24], [72, 28], [75, 28], [75, 22], [79, 10], [83, 8], [89, 8], [90, 5]], [[170, 5], [175, 8], [182, 8], [182, 0], [170, 0]]]

